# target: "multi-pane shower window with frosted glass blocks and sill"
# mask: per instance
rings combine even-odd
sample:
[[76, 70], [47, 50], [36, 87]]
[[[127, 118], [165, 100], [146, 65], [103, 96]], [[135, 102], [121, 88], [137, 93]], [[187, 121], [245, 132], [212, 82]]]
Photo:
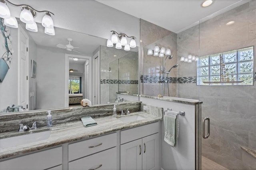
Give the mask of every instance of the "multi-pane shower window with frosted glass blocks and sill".
[[254, 47], [200, 57], [197, 85], [253, 85]]

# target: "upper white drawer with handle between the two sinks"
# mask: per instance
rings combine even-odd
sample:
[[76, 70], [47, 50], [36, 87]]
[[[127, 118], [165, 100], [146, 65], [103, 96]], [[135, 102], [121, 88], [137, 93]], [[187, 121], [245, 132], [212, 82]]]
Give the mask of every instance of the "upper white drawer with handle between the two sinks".
[[75, 160], [116, 146], [116, 133], [68, 145], [68, 161]]

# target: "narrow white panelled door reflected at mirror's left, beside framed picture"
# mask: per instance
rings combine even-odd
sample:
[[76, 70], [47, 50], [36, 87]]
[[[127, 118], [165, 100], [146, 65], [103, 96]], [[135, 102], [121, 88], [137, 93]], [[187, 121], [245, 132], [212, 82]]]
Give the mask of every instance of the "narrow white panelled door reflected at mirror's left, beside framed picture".
[[19, 27], [18, 105], [28, 110], [28, 35]]

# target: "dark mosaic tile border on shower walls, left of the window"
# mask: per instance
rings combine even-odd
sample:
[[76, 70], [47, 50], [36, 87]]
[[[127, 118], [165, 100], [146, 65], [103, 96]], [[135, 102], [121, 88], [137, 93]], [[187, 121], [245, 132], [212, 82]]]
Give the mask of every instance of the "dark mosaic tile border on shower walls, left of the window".
[[[164, 77], [154, 75], [140, 75], [140, 83], [163, 83]], [[168, 83], [196, 83], [194, 77], [168, 77]]]

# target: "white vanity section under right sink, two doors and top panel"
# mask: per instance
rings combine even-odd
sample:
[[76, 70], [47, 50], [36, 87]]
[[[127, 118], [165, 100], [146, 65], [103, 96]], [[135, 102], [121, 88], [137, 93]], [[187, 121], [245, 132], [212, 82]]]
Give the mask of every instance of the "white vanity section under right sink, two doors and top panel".
[[121, 131], [121, 170], [159, 170], [158, 125], [153, 123]]

